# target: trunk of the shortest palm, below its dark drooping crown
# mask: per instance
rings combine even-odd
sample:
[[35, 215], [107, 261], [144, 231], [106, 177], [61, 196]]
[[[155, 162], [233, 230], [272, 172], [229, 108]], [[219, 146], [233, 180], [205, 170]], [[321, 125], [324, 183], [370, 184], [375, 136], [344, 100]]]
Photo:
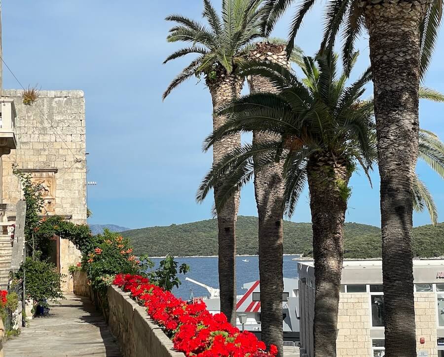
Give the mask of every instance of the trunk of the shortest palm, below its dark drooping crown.
[[316, 286], [314, 357], [335, 357], [350, 164], [331, 155], [316, 156], [309, 160], [307, 176]]

